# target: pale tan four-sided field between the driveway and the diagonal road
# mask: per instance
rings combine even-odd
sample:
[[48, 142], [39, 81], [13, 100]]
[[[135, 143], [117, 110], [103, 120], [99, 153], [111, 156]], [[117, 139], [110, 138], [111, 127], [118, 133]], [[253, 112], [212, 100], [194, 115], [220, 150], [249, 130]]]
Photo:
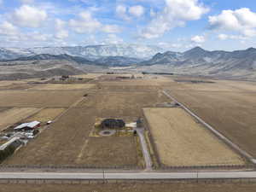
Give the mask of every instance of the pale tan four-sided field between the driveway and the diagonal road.
[[243, 165], [241, 157], [181, 108], [145, 108], [165, 166]]

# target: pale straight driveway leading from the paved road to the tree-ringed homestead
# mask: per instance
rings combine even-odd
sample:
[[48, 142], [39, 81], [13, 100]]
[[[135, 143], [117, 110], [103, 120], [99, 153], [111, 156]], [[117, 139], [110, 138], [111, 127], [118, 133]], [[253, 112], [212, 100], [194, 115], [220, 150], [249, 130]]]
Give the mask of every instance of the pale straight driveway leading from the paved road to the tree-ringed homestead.
[[150, 157], [150, 154], [148, 152], [148, 145], [145, 141], [145, 137], [144, 137], [144, 129], [143, 128], [137, 128], [137, 134], [140, 137], [140, 141], [141, 141], [141, 146], [143, 149], [143, 156], [144, 156], [144, 160], [146, 163], [146, 170], [151, 170], [152, 169], [152, 160]]

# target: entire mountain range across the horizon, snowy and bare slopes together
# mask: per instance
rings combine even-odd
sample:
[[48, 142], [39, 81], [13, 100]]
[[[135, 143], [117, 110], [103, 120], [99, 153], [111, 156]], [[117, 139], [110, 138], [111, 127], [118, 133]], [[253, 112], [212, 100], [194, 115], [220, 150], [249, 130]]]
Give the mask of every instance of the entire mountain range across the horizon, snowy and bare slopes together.
[[[0, 65], [37, 64], [37, 61], [65, 61], [71, 66], [136, 67], [139, 71], [180, 73], [239, 79], [256, 79], [256, 49], [208, 51], [195, 47], [185, 52], [166, 51], [145, 45], [91, 45], [86, 47], [57, 47], [7, 49], [0, 48]], [[33, 62], [32, 62], [33, 61]], [[43, 62], [43, 63], [45, 63]], [[87, 68], [85, 68], [87, 70]]]

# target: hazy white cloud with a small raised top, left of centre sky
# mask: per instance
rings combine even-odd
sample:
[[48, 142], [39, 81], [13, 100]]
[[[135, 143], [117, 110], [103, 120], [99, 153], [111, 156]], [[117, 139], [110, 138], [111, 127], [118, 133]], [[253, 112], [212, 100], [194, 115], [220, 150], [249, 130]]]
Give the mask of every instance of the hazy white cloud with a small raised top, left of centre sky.
[[69, 20], [69, 26], [78, 33], [92, 32], [120, 32], [119, 26], [103, 25], [99, 20], [94, 18], [90, 11], [84, 11], [79, 14], [79, 20]]

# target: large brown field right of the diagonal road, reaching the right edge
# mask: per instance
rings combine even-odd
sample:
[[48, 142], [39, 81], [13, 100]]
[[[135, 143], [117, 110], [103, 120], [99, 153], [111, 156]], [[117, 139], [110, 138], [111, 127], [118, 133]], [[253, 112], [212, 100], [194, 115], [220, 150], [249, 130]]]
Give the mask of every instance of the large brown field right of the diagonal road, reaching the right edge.
[[256, 83], [172, 84], [169, 93], [256, 158]]

